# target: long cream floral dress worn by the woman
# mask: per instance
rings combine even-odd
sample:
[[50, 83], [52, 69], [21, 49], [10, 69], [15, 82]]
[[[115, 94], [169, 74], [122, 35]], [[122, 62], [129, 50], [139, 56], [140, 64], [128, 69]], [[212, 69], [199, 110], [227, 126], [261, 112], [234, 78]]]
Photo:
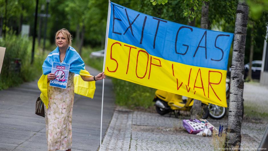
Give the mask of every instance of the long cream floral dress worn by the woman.
[[69, 72], [66, 89], [48, 86], [48, 109], [45, 108], [48, 150], [72, 148], [73, 105], [74, 73]]

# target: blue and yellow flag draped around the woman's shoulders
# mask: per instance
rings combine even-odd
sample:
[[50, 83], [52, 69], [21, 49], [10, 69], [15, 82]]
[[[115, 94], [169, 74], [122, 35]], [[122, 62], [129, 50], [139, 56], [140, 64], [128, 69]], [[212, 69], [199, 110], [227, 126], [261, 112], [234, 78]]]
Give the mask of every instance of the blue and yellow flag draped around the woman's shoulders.
[[[51, 73], [53, 62], [60, 62], [60, 51], [58, 47], [46, 57], [46, 60], [44, 61], [42, 66], [43, 75], [38, 80], [38, 88], [41, 91], [40, 98], [46, 105], [46, 108], [48, 108], [47, 88], [49, 86], [49, 83], [47, 81], [47, 75]], [[92, 76], [92, 75], [90, 75], [90, 73], [86, 71], [84, 61], [73, 47], [69, 46], [68, 49], [66, 50], [66, 55], [63, 63], [70, 64], [69, 71], [75, 73], [74, 92], [76, 94], [93, 98], [96, 89], [95, 81], [86, 82], [81, 78], [81, 76], [79, 76], [79, 75], [83, 76]]]

